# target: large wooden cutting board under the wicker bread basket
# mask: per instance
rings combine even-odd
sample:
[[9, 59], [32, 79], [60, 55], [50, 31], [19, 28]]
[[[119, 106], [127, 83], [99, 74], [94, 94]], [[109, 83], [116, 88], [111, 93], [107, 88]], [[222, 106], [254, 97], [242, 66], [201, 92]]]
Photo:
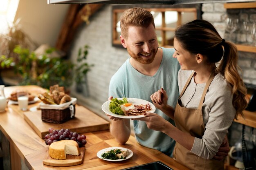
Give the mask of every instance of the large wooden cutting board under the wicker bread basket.
[[41, 110], [24, 112], [24, 119], [42, 139], [44, 139], [46, 134], [49, 134], [49, 128], [69, 128], [73, 132], [86, 133], [98, 130], [108, 130], [110, 127], [110, 123], [108, 121], [99, 115], [96, 115], [87, 108], [77, 104], [75, 117], [62, 124], [54, 124], [42, 121]]

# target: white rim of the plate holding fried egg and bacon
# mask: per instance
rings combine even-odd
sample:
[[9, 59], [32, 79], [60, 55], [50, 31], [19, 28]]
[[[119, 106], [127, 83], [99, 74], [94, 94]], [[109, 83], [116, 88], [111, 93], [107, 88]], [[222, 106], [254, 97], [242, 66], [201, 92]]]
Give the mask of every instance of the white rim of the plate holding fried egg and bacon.
[[[150, 104], [150, 106], [151, 106], [151, 110], [149, 110], [149, 112], [154, 113], [155, 110], [156, 110], [155, 105], [154, 105], [153, 103], [151, 103], [151, 102], [148, 102], [147, 100], [139, 99], [139, 98], [132, 98], [132, 97], [120, 97], [120, 98], [117, 98], [117, 99], [120, 100], [120, 99], [123, 99], [123, 98], [126, 98], [128, 101], [129, 101], [129, 100], [141, 100], [142, 102], [145, 102], [145, 103], [147, 102], [147, 103]], [[103, 109], [103, 107], [105, 107], [105, 105], [108, 104], [108, 106], [109, 106], [110, 101], [111, 101], [111, 100], [108, 100], [108, 101], [104, 102], [104, 103], [102, 104], [102, 106], [101, 106], [101, 109], [103, 110], [103, 112], [107, 113], [107, 114], [110, 115], [110, 116], [118, 117], [118, 118], [123, 118], [123, 119], [137, 119], [137, 118], [144, 117], [144, 115], [136, 115], [136, 116], [117, 115], [117, 114], [115, 114], [115, 113], [112, 113], [112, 112], [109, 110], [109, 107], [108, 107], [108, 110]], [[106, 112], [106, 111], [109, 111], [109, 112]]]

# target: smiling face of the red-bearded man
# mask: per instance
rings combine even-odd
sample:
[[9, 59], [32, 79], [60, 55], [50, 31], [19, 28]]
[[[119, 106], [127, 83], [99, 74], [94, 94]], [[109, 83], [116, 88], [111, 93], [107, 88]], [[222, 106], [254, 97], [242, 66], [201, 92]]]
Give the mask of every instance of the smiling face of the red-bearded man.
[[[123, 42], [122, 42], [123, 41]], [[154, 26], [150, 24], [147, 28], [141, 26], [130, 26], [126, 39], [121, 42], [127, 48], [130, 56], [141, 64], [150, 64], [155, 58], [158, 49], [157, 36]]]

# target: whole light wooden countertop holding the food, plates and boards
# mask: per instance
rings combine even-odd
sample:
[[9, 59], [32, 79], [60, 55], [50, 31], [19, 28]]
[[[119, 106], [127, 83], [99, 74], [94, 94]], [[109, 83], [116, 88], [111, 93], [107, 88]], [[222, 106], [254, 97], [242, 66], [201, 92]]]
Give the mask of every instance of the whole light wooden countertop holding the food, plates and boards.
[[[32, 94], [45, 91], [38, 86], [12, 86], [4, 89], [6, 97], [9, 96], [11, 91], [20, 87], [29, 89]], [[29, 108], [37, 105], [38, 103], [29, 104]], [[110, 135], [109, 130], [84, 133], [84, 135], [87, 136], [87, 144], [83, 164], [71, 167], [52, 167], [43, 165], [45, 151], [47, 151], [49, 146], [45, 145], [44, 140], [41, 139], [31, 126], [29, 126], [27, 121], [25, 121], [24, 113], [18, 109], [18, 105], [8, 104], [6, 112], [0, 113], [0, 130], [8, 139], [10, 148], [18, 153], [20, 159], [25, 161], [26, 166], [30, 170], [117, 170], [154, 161], [162, 161], [174, 170], [188, 170], [186, 167], [180, 165], [162, 152], [139, 145], [133, 136], [130, 136], [130, 139], [125, 145], [118, 144]], [[97, 152], [110, 146], [128, 148], [134, 152], [134, 155], [128, 160], [119, 162], [99, 159], [97, 157]], [[13, 158], [11, 157], [11, 159]], [[17, 162], [14, 164], [17, 164]], [[14, 170], [15, 167], [12, 167], [12, 169]]]

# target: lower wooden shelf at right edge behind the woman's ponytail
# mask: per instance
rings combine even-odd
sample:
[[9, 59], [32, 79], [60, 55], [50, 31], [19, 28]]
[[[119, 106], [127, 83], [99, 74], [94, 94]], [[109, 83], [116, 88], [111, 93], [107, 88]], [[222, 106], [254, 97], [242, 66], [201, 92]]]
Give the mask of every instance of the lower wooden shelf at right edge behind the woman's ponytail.
[[238, 115], [238, 120], [235, 119], [234, 121], [246, 126], [256, 128], [256, 111], [250, 112], [248, 110], [244, 110], [243, 114], [245, 115], [245, 119], [241, 115]]

